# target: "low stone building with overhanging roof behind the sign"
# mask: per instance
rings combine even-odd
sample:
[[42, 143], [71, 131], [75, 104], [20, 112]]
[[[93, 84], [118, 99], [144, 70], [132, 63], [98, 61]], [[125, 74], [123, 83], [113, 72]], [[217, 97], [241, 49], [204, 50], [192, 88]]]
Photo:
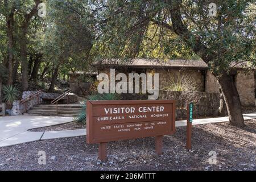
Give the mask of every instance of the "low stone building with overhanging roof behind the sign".
[[[115, 74], [120, 73], [159, 73], [159, 89], [164, 89], [170, 82], [188, 79], [195, 91], [218, 93], [216, 78], [208, 70], [207, 64], [200, 60], [158, 60], [135, 59], [128, 63], [118, 60], [100, 61], [92, 64], [98, 73], [108, 73], [115, 68]], [[240, 94], [243, 106], [255, 106], [254, 71], [248, 72], [240, 66], [234, 67], [233, 80]]]

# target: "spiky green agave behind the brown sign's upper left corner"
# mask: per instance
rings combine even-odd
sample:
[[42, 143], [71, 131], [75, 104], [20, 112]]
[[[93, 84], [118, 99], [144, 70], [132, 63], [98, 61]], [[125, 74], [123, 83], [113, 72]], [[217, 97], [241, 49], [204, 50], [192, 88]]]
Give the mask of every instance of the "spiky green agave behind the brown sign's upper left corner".
[[[121, 100], [121, 96], [116, 93], [104, 93], [104, 94], [93, 94], [87, 97], [89, 101], [100, 101], [100, 100]], [[82, 104], [79, 117], [76, 118], [76, 122], [81, 122], [85, 124], [86, 122], [86, 103]]]

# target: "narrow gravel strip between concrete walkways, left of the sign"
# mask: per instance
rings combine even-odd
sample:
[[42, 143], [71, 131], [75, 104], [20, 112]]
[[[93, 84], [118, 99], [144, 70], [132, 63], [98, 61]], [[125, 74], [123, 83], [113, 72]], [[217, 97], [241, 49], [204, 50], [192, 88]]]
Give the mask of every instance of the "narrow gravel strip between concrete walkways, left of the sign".
[[82, 123], [77, 123], [75, 121], [59, 124], [59, 125], [52, 125], [46, 127], [39, 127], [36, 129], [30, 129], [28, 131], [61, 131], [61, 130], [76, 130], [76, 129], [85, 129], [86, 125], [82, 125]]

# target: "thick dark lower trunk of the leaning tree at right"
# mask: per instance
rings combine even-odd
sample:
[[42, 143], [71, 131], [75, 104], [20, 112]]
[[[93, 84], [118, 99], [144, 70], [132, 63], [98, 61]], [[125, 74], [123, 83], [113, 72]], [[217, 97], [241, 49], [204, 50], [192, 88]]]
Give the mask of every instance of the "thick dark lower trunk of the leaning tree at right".
[[222, 73], [222, 76], [217, 77], [217, 80], [226, 102], [230, 124], [238, 127], [245, 126], [240, 97], [232, 76], [224, 72]]

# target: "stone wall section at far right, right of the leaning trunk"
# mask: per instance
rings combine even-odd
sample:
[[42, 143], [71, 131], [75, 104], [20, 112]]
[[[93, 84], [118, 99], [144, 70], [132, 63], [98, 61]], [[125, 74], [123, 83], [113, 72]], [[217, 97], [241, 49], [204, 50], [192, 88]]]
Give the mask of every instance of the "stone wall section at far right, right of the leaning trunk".
[[254, 72], [237, 71], [237, 91], [243, 106], [255, 106]]

